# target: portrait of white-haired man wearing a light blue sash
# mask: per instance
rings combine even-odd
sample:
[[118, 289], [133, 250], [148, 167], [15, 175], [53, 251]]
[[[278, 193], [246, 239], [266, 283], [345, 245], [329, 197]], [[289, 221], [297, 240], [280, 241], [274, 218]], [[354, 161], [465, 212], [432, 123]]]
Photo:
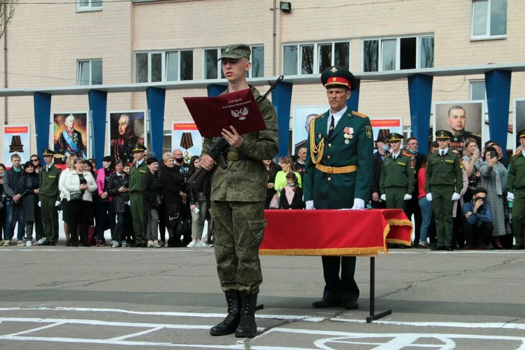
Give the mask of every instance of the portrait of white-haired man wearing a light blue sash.
[[88, 113], [53, 113], [53, 150], [62, 155], [55, 163], [65, 164], [69, 156], [88, 158]]

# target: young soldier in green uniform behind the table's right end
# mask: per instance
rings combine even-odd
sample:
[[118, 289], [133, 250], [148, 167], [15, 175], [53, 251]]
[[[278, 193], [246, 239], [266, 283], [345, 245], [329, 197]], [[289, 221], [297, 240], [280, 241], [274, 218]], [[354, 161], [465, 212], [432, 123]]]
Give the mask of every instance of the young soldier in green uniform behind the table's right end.
[[388, 209], [397, 208], [406, 211], [407, 200], [412, 199], [414, 192], [414, 168], [410, 157], [401, 152], [403, 135], [388, 135], [392, 153], [383, 160], [379, 189], [381, 199], [386, 201]]

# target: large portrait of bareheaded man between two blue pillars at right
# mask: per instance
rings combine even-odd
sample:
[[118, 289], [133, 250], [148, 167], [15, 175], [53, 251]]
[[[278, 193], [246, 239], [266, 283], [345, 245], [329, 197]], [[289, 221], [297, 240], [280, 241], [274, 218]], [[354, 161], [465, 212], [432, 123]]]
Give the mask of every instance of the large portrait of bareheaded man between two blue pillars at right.
[[[482, 149], [484, 137], [484, 101], [443, 101], [434, 103], [433, 125], [436, 131], [452, 133], [449, 148], [463, 155], [463, 143], [473, 139]], [[435, 135], [433, 136], [435, 139]]]

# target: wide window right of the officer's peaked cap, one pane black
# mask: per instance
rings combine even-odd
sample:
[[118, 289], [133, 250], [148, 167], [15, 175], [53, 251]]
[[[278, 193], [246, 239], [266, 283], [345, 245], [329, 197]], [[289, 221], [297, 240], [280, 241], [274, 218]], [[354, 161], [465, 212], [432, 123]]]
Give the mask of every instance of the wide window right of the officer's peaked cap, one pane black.
[[363, 71], [432, 68], [434, 37], [363, 40]]

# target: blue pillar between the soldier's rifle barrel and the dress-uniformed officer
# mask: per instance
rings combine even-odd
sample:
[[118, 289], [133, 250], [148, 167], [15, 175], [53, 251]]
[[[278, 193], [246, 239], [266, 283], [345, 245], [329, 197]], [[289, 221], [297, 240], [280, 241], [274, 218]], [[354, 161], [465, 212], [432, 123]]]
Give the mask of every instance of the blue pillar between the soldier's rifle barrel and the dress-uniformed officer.
[[277, 125], [279, 127], [279, 152], [277, 157], [288, 155], [292, 86], [292, 83], [280, 82], [275, 90], [271, 92], [271, 102], [274, 104], [277, 112]]

